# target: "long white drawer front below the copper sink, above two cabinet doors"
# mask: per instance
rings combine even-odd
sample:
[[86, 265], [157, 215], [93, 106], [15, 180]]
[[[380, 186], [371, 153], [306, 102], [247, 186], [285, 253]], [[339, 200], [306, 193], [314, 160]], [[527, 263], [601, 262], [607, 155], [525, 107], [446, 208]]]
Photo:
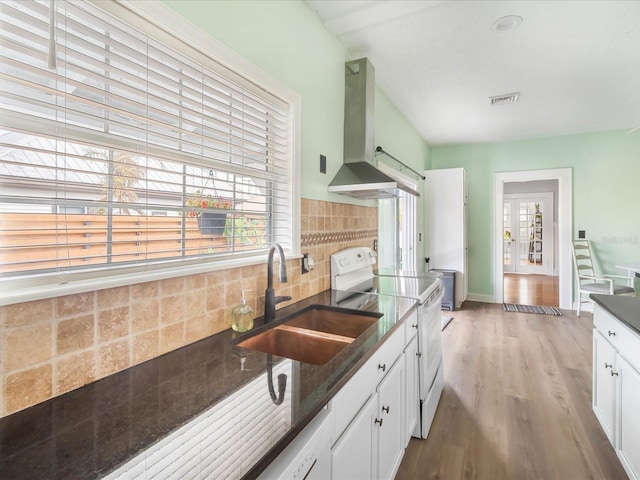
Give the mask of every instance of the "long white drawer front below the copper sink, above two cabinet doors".
[[404, 329], [398, 328], [331, 399], [334, 422], [333, 442], [340, 438], [351, 420], [375, 393], [380, 380], [402, 354], [403, 342]]

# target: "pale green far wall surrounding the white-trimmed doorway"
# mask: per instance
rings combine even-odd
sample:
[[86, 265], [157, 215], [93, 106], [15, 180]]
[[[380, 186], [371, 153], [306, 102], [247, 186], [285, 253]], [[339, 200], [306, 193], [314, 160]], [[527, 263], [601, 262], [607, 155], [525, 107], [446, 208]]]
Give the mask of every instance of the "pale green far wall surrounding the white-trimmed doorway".
[[572, 168], [573, 236], [586, 230], [606, 273], [640, 265], [640, 134], [610, 131], [517, 142], [432, 147], [433, 168], [468, 175], [469, 293], [493, 295], [493, 175]]

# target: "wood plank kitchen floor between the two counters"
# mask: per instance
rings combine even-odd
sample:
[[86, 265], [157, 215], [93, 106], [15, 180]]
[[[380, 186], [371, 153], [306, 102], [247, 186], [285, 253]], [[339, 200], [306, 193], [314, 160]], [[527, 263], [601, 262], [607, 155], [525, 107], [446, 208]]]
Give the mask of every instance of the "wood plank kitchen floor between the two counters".
[[591, 410], [591, 314], [463, 306], [442, 332], [429, 438], [411, 439], [396, 479], [626, 479]]

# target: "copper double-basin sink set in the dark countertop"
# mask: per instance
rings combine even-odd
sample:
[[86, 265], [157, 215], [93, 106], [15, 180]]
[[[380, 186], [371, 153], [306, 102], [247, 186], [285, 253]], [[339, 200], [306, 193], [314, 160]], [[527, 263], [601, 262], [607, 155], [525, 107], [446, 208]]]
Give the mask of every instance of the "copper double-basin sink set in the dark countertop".
[[360, 314], [316, 305], [242, 340], [238, 346], [303, 363], [323, 365], [380, 317], [380, 314], [371, 312]]

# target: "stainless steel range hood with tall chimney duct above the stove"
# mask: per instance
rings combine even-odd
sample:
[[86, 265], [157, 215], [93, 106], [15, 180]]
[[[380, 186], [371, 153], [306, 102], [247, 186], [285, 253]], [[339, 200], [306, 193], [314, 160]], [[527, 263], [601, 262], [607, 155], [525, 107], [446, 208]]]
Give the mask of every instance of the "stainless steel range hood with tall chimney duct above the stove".
[[345, 63], [344, 161], [329, 191], [354, 198], [392, 198], [410, 186], [378, 170], [374, 150], [374, 68], [367, 58]]

